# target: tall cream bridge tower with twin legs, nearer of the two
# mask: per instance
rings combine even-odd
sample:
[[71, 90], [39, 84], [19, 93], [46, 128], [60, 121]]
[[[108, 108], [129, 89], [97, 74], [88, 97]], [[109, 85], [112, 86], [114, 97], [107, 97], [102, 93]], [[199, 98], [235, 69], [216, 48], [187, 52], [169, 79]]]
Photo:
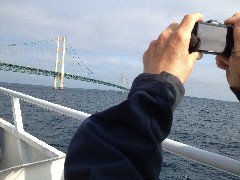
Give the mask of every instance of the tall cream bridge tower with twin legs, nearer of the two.
[[[63, 79], [64, 79], [64, 58], [65, 58], [65, 46], [66, 38], [58, 36], [57, 37], [57, 48], [56, 48], [56, 62], [55, 62], [55, 74], [53, 89], [57, 89], [57, 81], [60, 80], [59, 89], [63, 89]], [[58, 67], [60, 66], [60, 72]]]

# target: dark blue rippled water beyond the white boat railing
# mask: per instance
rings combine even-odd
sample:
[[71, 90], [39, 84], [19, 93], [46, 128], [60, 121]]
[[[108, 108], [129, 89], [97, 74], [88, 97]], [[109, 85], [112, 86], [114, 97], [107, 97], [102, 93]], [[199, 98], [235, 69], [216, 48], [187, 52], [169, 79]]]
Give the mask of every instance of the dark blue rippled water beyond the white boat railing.
[[[102, 111], [127, 98], [115, 91], [0, 83], [25, 94], [89, 114]], [[24, 128], [37, 138], [66, 152], [79, 126], [78, 120], [21, 102]], [[0, 117], [13, 123], [10, 97], [0, 94]], [[240, 103], [184, 97], [174, 114], [170, 139], [240, 160]], [[160, 179], [240, 179], [191, 160], [163, 152]]]

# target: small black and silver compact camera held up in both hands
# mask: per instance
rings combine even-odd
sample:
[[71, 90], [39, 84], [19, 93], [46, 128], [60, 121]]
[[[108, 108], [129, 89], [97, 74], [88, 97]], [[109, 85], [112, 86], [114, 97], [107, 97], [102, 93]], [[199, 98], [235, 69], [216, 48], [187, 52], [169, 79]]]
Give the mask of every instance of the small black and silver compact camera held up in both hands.
[[216, 20], [197, 22], [192, 30], [189, 52], [231, 56], [234, 46], [233, 26]]

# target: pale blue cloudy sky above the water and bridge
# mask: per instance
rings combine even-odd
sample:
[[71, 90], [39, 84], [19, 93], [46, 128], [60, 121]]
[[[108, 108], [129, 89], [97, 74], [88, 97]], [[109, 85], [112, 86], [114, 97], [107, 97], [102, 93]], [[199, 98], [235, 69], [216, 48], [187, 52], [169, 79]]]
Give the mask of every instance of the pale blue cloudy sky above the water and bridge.
[[[62, 35], [98, 79], [114, 82], [125, 74], [130, 87], [143, 70], [142, 55], [149, 43], [169, 24], [195, 12], [202, 13], [204, 20], [224, 22], [239, 7], [238, 0], [1, 0], [0, 44]], [[3, 71], [0, 82], [53, 83], [49, 77]], [[65, 86], [79, 87], [71, 80]], [[196, 63], [185, 91], [191, 97], [237, 101], [213, 55]]]

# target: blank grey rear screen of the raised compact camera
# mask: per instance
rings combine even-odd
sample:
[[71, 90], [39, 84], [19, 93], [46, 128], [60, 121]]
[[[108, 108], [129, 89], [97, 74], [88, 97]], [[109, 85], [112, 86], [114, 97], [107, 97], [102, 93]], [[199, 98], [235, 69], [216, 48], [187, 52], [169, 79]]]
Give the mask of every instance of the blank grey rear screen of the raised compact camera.
[[199, 23], [198, 37], [201, 39], [200, 50], [222, 53], [226, 47], [227, 28]]

